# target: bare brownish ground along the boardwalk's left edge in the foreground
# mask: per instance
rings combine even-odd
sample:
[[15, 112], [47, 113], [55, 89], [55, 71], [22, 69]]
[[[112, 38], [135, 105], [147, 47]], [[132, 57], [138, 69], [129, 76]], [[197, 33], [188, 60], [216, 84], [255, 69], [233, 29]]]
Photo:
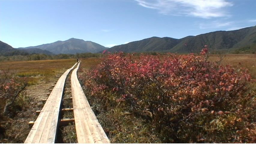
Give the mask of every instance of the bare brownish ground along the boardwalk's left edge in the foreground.
[[9, 117], [2, 116], [0, 118], [0, 143], [24, 143], [29, 131], [32, 127], [29, 127], [28, 122], [37, 119], [35, 114], [36, 110], [41, 110], [45, 101], [43, 99], [48, 98], [47, 93], [52, 89], [51, 85], [54, 84], [58, 78], [44, 81], [41, 80], [38, 85], [32, 85], [27, 87], [26, 96], [29, 99], [29, 104], [21, 107], [15, 115]]

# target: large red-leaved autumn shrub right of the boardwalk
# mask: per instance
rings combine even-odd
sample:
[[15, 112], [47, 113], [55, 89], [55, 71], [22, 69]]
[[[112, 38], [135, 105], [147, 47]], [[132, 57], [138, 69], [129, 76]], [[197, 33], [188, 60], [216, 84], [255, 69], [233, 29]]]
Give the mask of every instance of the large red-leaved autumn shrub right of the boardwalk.
[[256, 99], [248, 70], [200, 55], [106, 54], [84, 85], [106, 106], [145, 115], [162, 143], [255, 143]]

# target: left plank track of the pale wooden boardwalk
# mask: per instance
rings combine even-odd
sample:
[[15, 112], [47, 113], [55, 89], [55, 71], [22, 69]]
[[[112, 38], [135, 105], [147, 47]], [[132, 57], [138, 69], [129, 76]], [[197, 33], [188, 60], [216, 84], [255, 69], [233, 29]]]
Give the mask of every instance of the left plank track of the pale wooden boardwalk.
[[64, 84], [74, 66], [66, 70], [57, 81], [24, 143], [55, 142]]

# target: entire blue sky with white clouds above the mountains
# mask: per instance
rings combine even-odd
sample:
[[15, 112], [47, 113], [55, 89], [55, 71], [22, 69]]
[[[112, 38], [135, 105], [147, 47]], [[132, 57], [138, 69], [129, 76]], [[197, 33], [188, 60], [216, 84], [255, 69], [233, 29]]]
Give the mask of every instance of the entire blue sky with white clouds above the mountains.
[[14, 48], [78, 38], [106, 47], [256, 25], [256, 0], [0, 1], [0, 41]]

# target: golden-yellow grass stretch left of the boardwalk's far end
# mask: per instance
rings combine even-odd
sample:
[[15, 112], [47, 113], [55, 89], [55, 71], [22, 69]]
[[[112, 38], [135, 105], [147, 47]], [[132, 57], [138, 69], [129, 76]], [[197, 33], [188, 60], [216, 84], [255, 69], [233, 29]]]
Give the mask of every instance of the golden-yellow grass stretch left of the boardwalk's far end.
[[38, 81], [47, 81], [59, 76], [64, 70], [72, 67], [75, 59], [42, 60], [42, 61], [9, 61], [1, 62], [0, 70], [14, 73], [16, 76], [27, 77], [29, 85]]

